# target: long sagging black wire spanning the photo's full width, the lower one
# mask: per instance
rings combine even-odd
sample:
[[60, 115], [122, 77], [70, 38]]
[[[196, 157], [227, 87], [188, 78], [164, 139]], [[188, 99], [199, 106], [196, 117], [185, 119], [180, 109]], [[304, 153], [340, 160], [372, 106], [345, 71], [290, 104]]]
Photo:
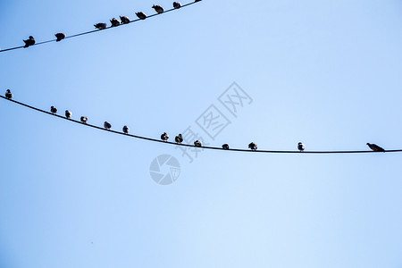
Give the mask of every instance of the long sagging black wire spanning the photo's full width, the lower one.
[[[13, 100], [13, 99], [6, 98], [5, 96], [0, 96], [0, 97], [4, 98], [5, 100], [13, 102], [14, 104], [22, 105], [22, 106], [28, 107], [29, 109], [32, 109], [32, 110], [35, 110], [35, 111], [38, 111], [38, 112], [41, 112], [41, 113], [47, 113], [47, 114], [62, 118], [64, 120], [73, 121], [73, 122], [76, 122], [76, 123], [79, 123], [81, 125], [84, 125], [84, 126], [87, 126], [87, 127], [90, 127], [90, 128], [94, 128], [94, 129], [97, 129], [97, 130], [104, 130], [104, 131], [112, 132], [114, 134], [120, 134], [120, 135], [123, 135], [123, 136], [129, 136], [131, 138], [140, 138], [140, 139], [145, 139], [145, 140], [149, 140], [149, 141], [160, 142], [160, 143], [163, 143], [163, 144], [170, 144], [170, 145], [175, 145], [175, 146], [180, 146], [180, 147], [196, 147], [196, 146], [190, 145], [190, 144], [179, 144], [179, 143], [175, 143], [175, 142], [171, 142], [171, 141], [163, 141], [163, 140], [156, 139], [156, 138], [147, 138], [147, 137], [141, 137], [141, 136], [132, 135], [132, 134], [125, 134], [123, 132], [116, 131], [116, 130], [106, 130], [104, 128], [101, 128], [101, 127], [98, 127], [98, 126], [95, 126], [95, 125], [91, 125], [91, 124], [88, 124], [88, 123], [83, 123], [81, 121], [66, 118], [66, 117], [64, 117], [62, 115], [59, 115], [59, 114], [46, 112], [45, 110], [38, 109], [38, 108], [36, 108], [34, 106], [25, 105], [23, 103], [20, 103], [20, 102], [17, 102], [15, 100]], [[254, 150], [231, 149], [231, 148], [229, 150], [225, 150], [225, 149], [223, 149], [221, 147], [197, 147], [197, 148], [211, 149], [211, 150], [233, 151], [233, 152], [271, 153], [271, 154], [366, 154], [366, 153], [381, 153], [381, 152], [374, 152], [374, 151], [304, 151], [304, 152], [300, 152], [300, 151], [272, 151], [272, 150], [255, 150], [254, 151]], [[402, 152], [402, 149], [385, 150], [384, 153], [396, 153], [396, 152]]]

